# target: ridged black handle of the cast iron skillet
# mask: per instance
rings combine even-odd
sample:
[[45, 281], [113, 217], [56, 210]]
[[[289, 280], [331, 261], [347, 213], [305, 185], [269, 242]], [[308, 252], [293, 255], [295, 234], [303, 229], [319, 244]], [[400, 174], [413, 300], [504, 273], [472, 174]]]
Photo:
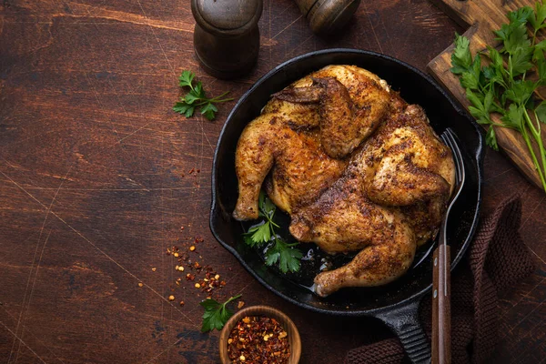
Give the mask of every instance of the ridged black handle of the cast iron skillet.
[[404, 306], [376, 314], [399, 337], [402, 347], [414, 364], [430, 363], [430, 343], [419, 322], [420, 299]]

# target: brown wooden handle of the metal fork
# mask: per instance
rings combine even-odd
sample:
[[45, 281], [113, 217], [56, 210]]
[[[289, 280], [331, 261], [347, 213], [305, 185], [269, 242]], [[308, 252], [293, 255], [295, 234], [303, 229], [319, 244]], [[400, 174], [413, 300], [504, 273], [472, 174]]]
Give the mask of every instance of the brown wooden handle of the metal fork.
[[432, 262], [432, 364], [450, 364], [450, 246], [440, 244], [434, 250]]

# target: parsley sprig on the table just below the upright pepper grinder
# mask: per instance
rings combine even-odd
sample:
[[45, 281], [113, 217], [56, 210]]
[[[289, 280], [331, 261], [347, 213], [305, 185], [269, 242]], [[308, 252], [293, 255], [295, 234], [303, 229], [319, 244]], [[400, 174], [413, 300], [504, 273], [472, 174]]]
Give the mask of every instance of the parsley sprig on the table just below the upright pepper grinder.
[[200, 81], [194, 86], [194, 77], [195, 75], [187, 70], [184, 70], [182, 75], [178, 77], [178, 86], [189, 87], [189, 92], [180, 97], [180, 101], [173, 106], [173, 110], [186, 117], [191, 117], [196, 108], [199, 107], [203, 116], [207, 117], [208, 120], [213, 120], [218, 111], [217, 106], [214, 104], [231, 101], [233, 98], [223, 98], [229, 94], [229, 91], [220, 96], [208, 98]]

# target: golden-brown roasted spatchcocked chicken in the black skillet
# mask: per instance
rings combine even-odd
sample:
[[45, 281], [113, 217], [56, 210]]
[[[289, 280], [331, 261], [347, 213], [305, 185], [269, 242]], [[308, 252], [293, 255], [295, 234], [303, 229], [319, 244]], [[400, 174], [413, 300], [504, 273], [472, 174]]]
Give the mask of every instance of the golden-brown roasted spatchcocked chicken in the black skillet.
[[233, 216], [258, 218], [263, 185], [298, 241], [358, 252], [315, 278], [326, 297], [404, 274], [438, 231], [454, 171], [420, 106], [367, 70], [326, 66], [274, 94], [243, 131]]

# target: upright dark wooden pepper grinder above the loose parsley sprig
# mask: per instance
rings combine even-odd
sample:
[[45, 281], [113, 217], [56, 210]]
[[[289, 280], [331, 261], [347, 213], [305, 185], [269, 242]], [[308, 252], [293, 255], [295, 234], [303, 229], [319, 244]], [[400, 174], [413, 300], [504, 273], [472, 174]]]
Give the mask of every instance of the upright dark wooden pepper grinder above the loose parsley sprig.
[[262, 0], [191, 0], [194, 48], [209, 75], [236, 78], [256, 64], [262, 8]]

